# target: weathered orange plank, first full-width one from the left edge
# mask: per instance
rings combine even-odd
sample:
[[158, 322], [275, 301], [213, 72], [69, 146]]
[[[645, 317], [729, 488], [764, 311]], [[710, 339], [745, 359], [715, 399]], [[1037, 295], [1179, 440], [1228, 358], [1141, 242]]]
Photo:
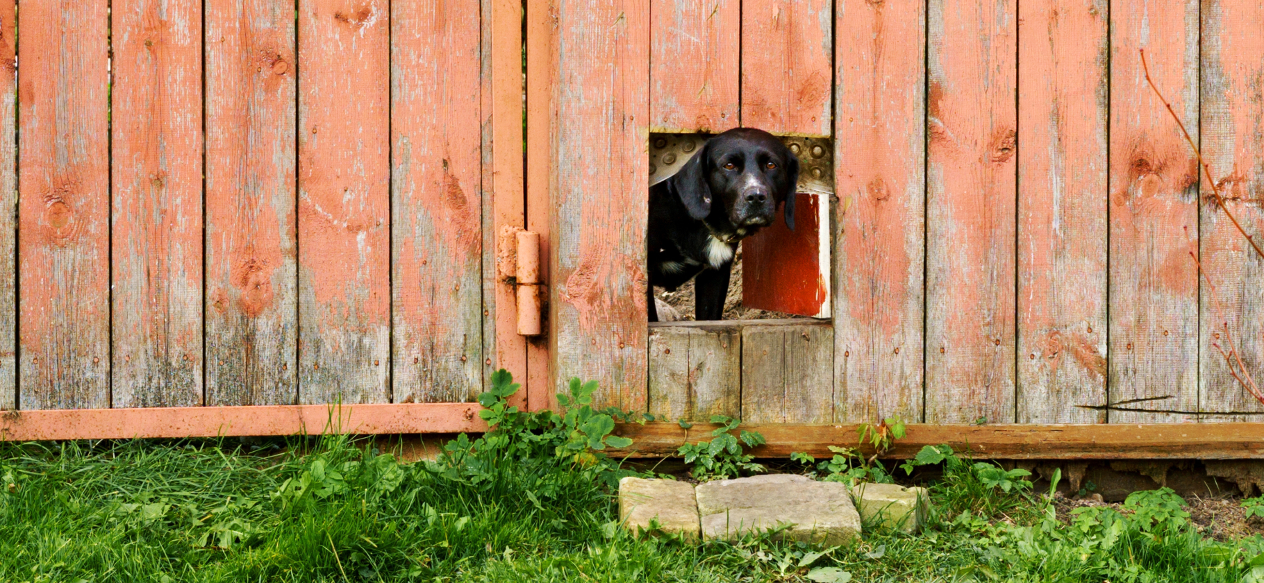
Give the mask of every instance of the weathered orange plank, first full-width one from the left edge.
[[21, 8], [21, 409], [110, 406], [107, 5]]

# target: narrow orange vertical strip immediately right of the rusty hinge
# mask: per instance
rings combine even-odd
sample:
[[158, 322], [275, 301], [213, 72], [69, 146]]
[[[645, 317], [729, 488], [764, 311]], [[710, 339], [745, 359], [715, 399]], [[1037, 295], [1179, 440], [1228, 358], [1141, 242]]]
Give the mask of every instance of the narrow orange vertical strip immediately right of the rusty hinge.
[[[554, 23], [557, 9], [554, 0], [526, 0], [526, 47], [527, 47], [527, 136], [525, 162], [526, 169], [526, 220], [527, 230], [540, 235], [541, 249], [551, 250], [552, 244], [552, 163], [554, 135], [557, 119], [557, 34]], [[501, 232], [499, 230], [497, 231]], [[554, 278], [551, 252], [540, 254], [540, 274], [545, 284], [556, 281]], [[546, 321], [545, 326], [550, 326]], [[540, 410], [551, 406], [557, 386], [554, 385], [552, 334], [545, 331], [527, 341], [526, 392], [527, 406]]]

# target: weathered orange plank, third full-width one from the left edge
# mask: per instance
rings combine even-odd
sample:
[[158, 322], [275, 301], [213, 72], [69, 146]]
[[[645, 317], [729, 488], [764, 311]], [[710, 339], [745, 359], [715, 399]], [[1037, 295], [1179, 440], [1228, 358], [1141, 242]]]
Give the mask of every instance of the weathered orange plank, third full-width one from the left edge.
[[206, 4], [206, 403], [298, 399], [295, 6]]

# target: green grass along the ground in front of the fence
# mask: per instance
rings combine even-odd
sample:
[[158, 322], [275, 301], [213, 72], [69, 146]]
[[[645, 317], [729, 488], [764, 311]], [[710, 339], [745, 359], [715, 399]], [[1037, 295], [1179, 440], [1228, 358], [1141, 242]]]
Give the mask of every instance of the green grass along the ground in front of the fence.
[[478, 459], [471, 483], [368, 442], [236, 443], [0, 445], [0, 580], [755, 582], [836, 567], [857, 582], [1240, 582], [1260, 550], [1176, 515], [1055, 526], [1038, 496], [949, 472], [924, 534], [866, 535], [801, 565], [820, 549], [635, 540], [613, 527], [600, 468], [562, 458]]

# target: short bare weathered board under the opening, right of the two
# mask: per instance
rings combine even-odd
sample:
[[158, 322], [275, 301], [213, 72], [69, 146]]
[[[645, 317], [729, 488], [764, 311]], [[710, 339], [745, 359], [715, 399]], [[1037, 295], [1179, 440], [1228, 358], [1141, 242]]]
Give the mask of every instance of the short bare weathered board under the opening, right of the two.
[[834, 329], [763, 321], [742, 328], [742, 414], [751, 423], [834, 420]]

